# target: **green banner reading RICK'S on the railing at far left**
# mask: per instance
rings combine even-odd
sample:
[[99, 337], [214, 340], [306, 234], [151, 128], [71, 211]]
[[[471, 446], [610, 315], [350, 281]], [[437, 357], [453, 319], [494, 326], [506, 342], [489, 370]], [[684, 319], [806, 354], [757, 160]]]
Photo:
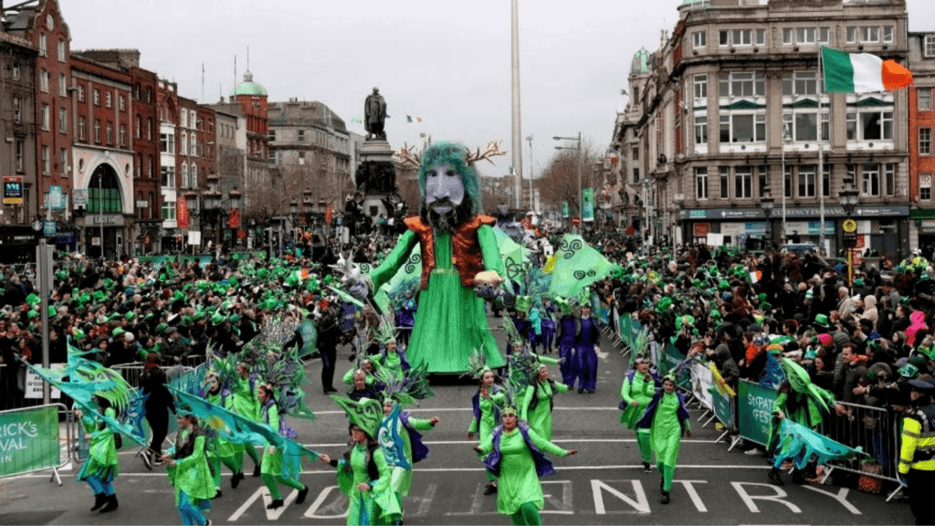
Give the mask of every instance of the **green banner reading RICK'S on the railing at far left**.
[[59, 465], [58, 406], [0, 413], [0, 477]]

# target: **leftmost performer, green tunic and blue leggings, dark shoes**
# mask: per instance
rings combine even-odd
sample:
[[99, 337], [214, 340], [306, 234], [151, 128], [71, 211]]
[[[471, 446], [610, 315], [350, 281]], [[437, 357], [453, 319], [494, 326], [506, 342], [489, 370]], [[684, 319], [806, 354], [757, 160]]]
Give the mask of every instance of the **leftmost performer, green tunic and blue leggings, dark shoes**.
[[[94, 396], [94, 402], [104, 416], [112, 419], [117, 417], [117, 411], [107, 399]], [[94, 507], [91, 511], [99, 509], [101, 513], [108, 513], [119, 507], [114, 480], [120, 475], [120, 462], [117, 459], [114, 431], [107, 423], [97, 421], [94, 416], [84, 415], [81, 410], [75, 411], [75, 417], [84, 425], [85, 431], [91, 433], [88, 460], [81, 464], [75, 480], [87, 482], [94, 490]]]

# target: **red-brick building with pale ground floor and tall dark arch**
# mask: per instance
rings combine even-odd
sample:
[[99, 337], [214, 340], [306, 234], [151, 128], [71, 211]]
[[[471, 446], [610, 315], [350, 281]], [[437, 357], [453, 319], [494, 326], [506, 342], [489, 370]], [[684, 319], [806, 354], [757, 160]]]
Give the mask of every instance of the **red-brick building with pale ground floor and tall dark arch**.
[[83, 217], [76, 221], [83, 229], [83, 250], [100, 256], [103, 246], [104, 256], [120, 257], [130, 253], [136, 228], [133, 80], [80, 51], [71, 55], [71, 77], [77, 128], [72, 183], [76, 193], [87, 195], [87, 204], [79, 205]]

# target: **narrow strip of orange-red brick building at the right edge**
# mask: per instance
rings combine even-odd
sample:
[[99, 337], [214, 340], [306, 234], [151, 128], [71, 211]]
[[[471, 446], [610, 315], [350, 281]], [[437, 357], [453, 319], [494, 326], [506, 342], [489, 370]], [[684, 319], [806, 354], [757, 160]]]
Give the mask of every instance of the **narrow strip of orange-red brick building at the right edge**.
[[915, 79], [909, 89], [909, 183], [913, 201], [909, 211], [912, 218], [909, 242], [913, 249], [924, 249], [931, 256], [935, 245], [935, 199], [932, 198], [935, 32], [909, 34], [909, 70]]

